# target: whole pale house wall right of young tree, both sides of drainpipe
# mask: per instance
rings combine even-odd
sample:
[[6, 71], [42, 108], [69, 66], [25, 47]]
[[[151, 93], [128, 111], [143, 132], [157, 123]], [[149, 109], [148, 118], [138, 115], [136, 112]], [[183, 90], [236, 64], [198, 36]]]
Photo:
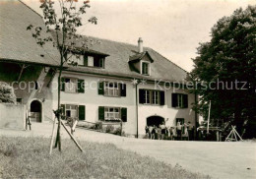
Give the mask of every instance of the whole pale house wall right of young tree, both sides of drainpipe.
[[[123, 129], [126, 135], [137, 134], [137, 118], [136, 118], [136, 89], [133, 87], [131, 80], [118, 80], [110, 77], [98, 77], [88, 74], [75, 74], [64, 72], [62, 77], [78, 78], [85, 80], [84, 93], [68, 93], [61, 91], [62, 104], [76, 104], [86, 106], [86, 121], [98, 121], [98, 106], [112, 106], [112, 107], [126, 107], [127, 108], [127, 122], [123, 124]], [[97, 93], [97, 83], [99, 81], [122, 82], [126, 84], [126, 96], [110, 97]], [[53, 79], [53, 84], [57, 83], [57, 76]], [[139, 89], [155, 89], [155, 84], [138, 85]], [[163, 88], [161, 86], [161, 88]], [[52, 87], [53, 94], [53, 108], [57, 108], [57, 89]], [[174, 126], [176, 118], [184, 118], [185, 122], [190, 121], [191, 125], [195, 126], [195, 112], [191, 110], [191, 103], [194, 102], [194, 94], [188, 94], [188, 108], [173, 108], [171, 107], [171, 93], [174, 89], [164, 89], [165, 91], [165, 105], [145, 105], [138, 104], [138, 129], [139, 136], [145, 136], [145, 126], [147, 118], [158, 115], [163, 117], [166, 126]], [[183, 89], [177, 89], [174, 92], [186, 93]]]

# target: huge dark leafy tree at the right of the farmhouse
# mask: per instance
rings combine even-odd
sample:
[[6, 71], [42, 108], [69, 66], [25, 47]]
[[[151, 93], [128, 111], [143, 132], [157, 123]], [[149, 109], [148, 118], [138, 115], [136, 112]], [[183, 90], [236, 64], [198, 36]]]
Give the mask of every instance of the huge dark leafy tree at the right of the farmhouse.
[[[222, 18], [211, 36], [198, 47], [187, 78], [194, 83], [191, 91], [200, 96], [194, 109], [207, 119], [211, 100], [213, 123], [229, 121], [242, 133], [246, 123], [256, 122], [256, 6]], [[248, 130], [247, 137], [255, 137]]]

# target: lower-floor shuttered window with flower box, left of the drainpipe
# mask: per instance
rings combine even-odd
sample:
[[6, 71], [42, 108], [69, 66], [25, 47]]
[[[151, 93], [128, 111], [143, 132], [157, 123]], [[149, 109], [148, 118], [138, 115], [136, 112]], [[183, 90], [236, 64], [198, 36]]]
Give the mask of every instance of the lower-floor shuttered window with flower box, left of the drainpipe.
[[127, 122], [127, 108], [125, 107], [98, 107], [98, 120], [99, 121], [116, 121]]

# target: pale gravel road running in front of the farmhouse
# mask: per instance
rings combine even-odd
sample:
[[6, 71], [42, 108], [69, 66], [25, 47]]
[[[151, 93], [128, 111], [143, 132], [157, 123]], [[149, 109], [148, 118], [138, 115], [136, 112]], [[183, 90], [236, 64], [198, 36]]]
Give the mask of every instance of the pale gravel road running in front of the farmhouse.
[[[0, 136], [40, 136], [49, 138], [51, 124], [32, 124], [32, 131], [0, 129]], [[64, 129], [63, 138], [70, 138]], [[179, 164], [193, 172], [208, 174], [222, 179], [256, 178], [256, 143], [215, 143], [153, 141], [97, 133], [77, 129], [75, 137], [81, 141], [111, 143], [120, 149], [129, 149], [142, 155], [149, 155], [171, 165]]]

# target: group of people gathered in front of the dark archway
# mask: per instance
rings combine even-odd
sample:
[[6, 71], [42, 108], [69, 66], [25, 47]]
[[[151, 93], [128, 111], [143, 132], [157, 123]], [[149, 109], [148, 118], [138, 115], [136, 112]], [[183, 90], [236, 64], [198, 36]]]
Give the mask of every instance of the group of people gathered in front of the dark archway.
[[193, 140], [193, 130], [194, 128], [188, 123], [181, 124], [177, 122], [176, 126], [167, 127], [164, 123], [160, 124], [159, 127], [146, 126], [146, 134], [149, 139], [152, 140]]

